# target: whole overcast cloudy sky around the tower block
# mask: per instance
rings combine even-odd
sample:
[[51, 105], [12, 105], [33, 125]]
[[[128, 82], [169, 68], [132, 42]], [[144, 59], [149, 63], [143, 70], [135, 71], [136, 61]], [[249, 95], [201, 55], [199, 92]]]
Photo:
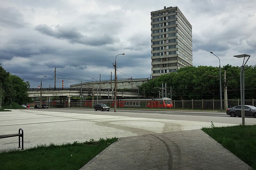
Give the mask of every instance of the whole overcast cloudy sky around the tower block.
[[[177, 6], [192, 25], [193, 66], [256, 65], [255, 0], [0, 0], [0, 63], [11, 74], [56, 87], [151, 74], [150, 12]], [[123, 73], [123, 74], [122, 74]], [[125, 75], [126, 74], [126, 75]], [[72, 79], [72, 80], [71, 80]]]

